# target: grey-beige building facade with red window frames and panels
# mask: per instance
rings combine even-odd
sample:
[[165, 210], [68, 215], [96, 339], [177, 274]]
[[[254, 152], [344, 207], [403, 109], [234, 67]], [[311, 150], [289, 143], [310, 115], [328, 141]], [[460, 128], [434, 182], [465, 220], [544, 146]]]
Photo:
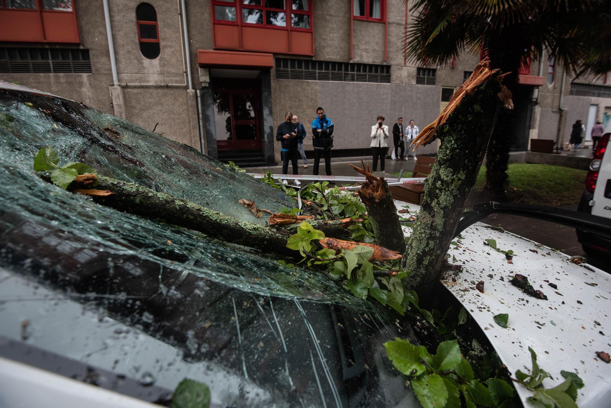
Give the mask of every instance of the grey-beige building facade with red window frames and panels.
[[[480, 56], [414, 65], [402, 0], [0, 0], [0, 79], [126, 118], [243, 166], [280, 160], [286, 111], [308, 131], [324, 107], [334, 157], [368, 155], [379, 114], [422, 129]], [[568, 141], [572, 123], [611, 131], [606, 76], [571, 78], [553, 59], [520, 71], [508, 137]], [[436, 145], [420, 149], [433, 154]]]

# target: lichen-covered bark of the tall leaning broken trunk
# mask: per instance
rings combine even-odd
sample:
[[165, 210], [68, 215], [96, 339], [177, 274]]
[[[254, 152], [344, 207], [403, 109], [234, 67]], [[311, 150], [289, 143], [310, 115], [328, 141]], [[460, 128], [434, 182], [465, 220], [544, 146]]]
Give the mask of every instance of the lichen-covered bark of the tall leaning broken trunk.
[[403, 268], [411, 272], [404, 283], [418, 292], [429, 290], [441, 277], [445, 253], [499, 114], [498, 75], [466, 95], [435, 133], [441, 146], [403, 257]]

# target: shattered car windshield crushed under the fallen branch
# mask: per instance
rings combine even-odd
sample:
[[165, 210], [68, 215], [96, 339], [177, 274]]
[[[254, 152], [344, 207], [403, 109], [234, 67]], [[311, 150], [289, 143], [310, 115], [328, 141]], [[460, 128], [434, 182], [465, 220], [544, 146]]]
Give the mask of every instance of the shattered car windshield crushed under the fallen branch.
[[[228, 406], [417, 404], [382, 346], [395, 336], [423, 343], [396, 324], [411, 318], [320, 272], [98, 205], [37, 177], [32, 162], [51, 145], [62, 162], [260, 225], [266, 216], [239, 199], [273, 212], [295, 199], [59, 98], [0, 90], [0, 139], [2, 355], [16, 358], [14, 344], [24, 343], [24, 355], [78, 360], [99, 370], [93, 383], [110, 376], [120, 392], [158, 403], [191, 377]], [[89, 371], [73, 375], [92, 382]], [[127, 381], [137, 386], [122, 388]]]

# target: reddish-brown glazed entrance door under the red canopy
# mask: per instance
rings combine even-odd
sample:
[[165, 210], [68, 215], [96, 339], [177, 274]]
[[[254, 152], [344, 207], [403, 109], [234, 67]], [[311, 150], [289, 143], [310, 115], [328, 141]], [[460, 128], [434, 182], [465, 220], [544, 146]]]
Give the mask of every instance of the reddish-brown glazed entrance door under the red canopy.
[[218, 150], [261, 148], [258, 100], [254, 90], [213, 89]]

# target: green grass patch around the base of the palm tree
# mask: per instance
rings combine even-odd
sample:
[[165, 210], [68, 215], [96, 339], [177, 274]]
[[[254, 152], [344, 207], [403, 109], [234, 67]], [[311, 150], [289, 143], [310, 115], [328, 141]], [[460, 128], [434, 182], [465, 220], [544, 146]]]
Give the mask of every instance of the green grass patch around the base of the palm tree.
[[[510, 202], [561, 206], [579, 203], [585, 187], [587, 171], [549, 164], [512, 163], [509, 165]], [[481, 191], [486, 180], [482, 164], [474, 191]]]

